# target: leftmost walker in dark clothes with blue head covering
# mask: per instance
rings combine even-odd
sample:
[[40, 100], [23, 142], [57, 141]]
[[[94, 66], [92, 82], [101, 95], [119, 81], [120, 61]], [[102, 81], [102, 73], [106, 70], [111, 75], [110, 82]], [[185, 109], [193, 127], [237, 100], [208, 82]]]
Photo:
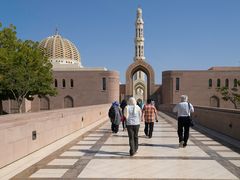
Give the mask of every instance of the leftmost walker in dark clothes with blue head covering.
[[119, 103], [117, 101], [112, 103], [112, 106], [110, 107], [108, 111], [108, 116], [110, 118], [110, 121], [112, 123], [111, 129], [113, 133], [117, 133], [119, 129], [119, 124], [121, 122], [122, 118], [122, 111], [119, 107]]

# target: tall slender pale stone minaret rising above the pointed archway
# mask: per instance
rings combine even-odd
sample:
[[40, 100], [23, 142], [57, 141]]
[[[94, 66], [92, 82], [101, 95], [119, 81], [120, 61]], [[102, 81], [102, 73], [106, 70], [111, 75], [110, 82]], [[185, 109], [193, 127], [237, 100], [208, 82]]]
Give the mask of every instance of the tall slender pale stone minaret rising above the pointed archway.
[[143, 37], [143, 19], [142, 19], [142, 9], [137, 9], [137, 19], [135, 23], [136, 27], [136, 37], [135, 37], [135, 57], [134, 61], [145, 60], [144, 57], [144, 37]]

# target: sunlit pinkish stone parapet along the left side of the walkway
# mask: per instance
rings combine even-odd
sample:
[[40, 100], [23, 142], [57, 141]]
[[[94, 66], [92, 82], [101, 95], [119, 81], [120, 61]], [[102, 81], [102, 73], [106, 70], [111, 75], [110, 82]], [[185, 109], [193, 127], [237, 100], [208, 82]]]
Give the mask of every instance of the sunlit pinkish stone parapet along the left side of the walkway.
[[0, 168], [107, 119], [110, 104], [0, 116]]

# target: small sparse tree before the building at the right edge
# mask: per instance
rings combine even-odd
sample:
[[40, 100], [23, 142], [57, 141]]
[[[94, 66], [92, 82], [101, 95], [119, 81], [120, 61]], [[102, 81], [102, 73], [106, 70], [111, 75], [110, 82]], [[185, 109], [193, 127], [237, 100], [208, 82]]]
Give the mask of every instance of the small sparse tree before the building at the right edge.
[[[240, 86], [240, 81], [238, 81], [238, 86]], [[230, 101], [234, 108], [237, 109], [240, 104], [240, 93], [238, 88], [234, 87], [229, 89], [228, 87], [217, 88], [217, 91], [222, 95], [224, 101]]]

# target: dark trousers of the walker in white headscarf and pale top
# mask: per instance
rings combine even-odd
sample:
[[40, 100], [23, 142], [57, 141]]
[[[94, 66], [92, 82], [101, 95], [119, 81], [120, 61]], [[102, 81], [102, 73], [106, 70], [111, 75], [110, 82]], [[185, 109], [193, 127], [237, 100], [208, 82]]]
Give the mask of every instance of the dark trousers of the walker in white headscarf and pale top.
[[140, 125], [127, 125], [128, 138], [130, 145], [130, 156], [135, 154], [138, 150], [138, 131]]

